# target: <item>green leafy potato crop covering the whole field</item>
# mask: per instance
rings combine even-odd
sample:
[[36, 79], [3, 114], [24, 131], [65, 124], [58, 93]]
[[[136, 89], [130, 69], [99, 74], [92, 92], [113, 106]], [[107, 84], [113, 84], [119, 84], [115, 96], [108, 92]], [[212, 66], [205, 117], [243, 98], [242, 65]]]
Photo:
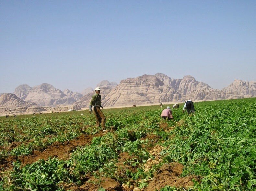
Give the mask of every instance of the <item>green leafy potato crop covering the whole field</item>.
[[[184, 165], [181, 176], [198, 176], [192, 187], [165, 186], [170, 190], [255, 190], [256, 98], [194, 103], [194, 115], [173, 110], [174, 120], [164, 121], [159, 106], [104, 109], [107, 129], [86, 146], [78, 146], [66, 160], [50, 157], [12, 169], [1, 169], [0, 190], [69, 190], [83, 185], [88, 176], [96, 180], [111, 177], [120, 184], [146, 190], [159, 168], [170, 162]], [[80, 115], [84, 113], [84, 115]], [[55, 142], [64, 143], [82, 134], [95, 135], [95, 119], [86, 111], [0, 118], [0, 159], [30, 155]], [[158, 137], [151, 142], [147, 137]], [[20, 144], [13, 149], [14, 142]], [[149, 148], [162, 148], [161, 161]], [[118, 173], [120, 154], [131, 157], [124, 165], [133, 167]], [[145, 181], [141, 181], [145, 180]], [[105, 190], [95, 181], [96, 190]], [[133, 187], [132, 187], [133, 186]], [[120, 190], [125, 190], [123, 187]]]

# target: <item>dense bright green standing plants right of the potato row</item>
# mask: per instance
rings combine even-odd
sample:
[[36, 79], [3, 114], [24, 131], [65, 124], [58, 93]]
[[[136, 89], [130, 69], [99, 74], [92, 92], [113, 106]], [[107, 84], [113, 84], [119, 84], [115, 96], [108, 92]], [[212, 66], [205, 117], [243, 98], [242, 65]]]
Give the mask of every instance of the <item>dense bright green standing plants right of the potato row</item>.
[[256, 173], [254, 115], [255, 104], [246, 101], [197, 107], [165, 142], [166, 160], [184, 164], [184, 175], [204, 176], [198, 189], [250, 190]]

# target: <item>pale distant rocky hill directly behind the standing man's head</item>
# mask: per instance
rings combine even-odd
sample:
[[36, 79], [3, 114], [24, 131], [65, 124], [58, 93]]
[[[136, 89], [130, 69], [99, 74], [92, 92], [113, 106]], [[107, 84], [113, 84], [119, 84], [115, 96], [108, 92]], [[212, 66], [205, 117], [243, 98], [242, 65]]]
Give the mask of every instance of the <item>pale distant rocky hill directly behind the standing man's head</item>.
[[[106, 95], [108, 95], [111, 92], [111, 90], [116, 86], [116, 82], [109, 82], [107, 80], [103, 80], [99, 84], [97, 84], [97, 87], [100, 87], [101, 102], [104, 101]], [[93, 94], [95, 94], [95, 90], [92, 90], [91, 92], [84, 95], [81, 99], [75, 102], [75, 104], [81, 107], [88, 107]]]

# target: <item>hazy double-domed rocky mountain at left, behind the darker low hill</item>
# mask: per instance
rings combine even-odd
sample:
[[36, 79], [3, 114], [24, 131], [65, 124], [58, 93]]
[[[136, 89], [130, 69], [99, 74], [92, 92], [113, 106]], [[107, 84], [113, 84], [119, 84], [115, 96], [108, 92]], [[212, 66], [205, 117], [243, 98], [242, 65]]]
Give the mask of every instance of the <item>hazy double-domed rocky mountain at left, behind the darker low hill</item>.
[[82, 97], [82, 94], [80, 93], [72, 92], [68, 89], [65, 89], [64, 92], [62, 92], [60, 89], [47, 83], [34, 87], [30, 87], [26, 84], [19, 85], [14, 93], [21, 100], [29, 103], [36, 103], [38, 106], [72, 105]]

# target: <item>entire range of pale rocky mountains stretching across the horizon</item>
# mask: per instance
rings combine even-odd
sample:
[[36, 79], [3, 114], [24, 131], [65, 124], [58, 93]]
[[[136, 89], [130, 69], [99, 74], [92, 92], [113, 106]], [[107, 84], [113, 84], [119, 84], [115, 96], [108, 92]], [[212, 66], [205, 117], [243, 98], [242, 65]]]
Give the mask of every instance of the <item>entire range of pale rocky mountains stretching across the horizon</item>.
[[[161, 73], [127, 78], [119, 84], [104, 80], [97, 86], [101, 89], [103, 106], [133, 106], [133, 104], [157, 104], [160, 101], [167, 103], [183, 102], [188, 99], [221, 100], [256, 96], [256, 82], [234, 80], [222, 90], [217, 90], [204, 82], [196, 81], [190, 75], [182, 79], [173, 79]], [[81, 94], [68, 89], [61, 91], [46, 83], [34, 87], [23, 84], [17, 86], [13, 94], [1, 94], [0, 107], [19, 107], [30, 104], [88, 107], [93, 94], [94, 88], [91, 87]]]

